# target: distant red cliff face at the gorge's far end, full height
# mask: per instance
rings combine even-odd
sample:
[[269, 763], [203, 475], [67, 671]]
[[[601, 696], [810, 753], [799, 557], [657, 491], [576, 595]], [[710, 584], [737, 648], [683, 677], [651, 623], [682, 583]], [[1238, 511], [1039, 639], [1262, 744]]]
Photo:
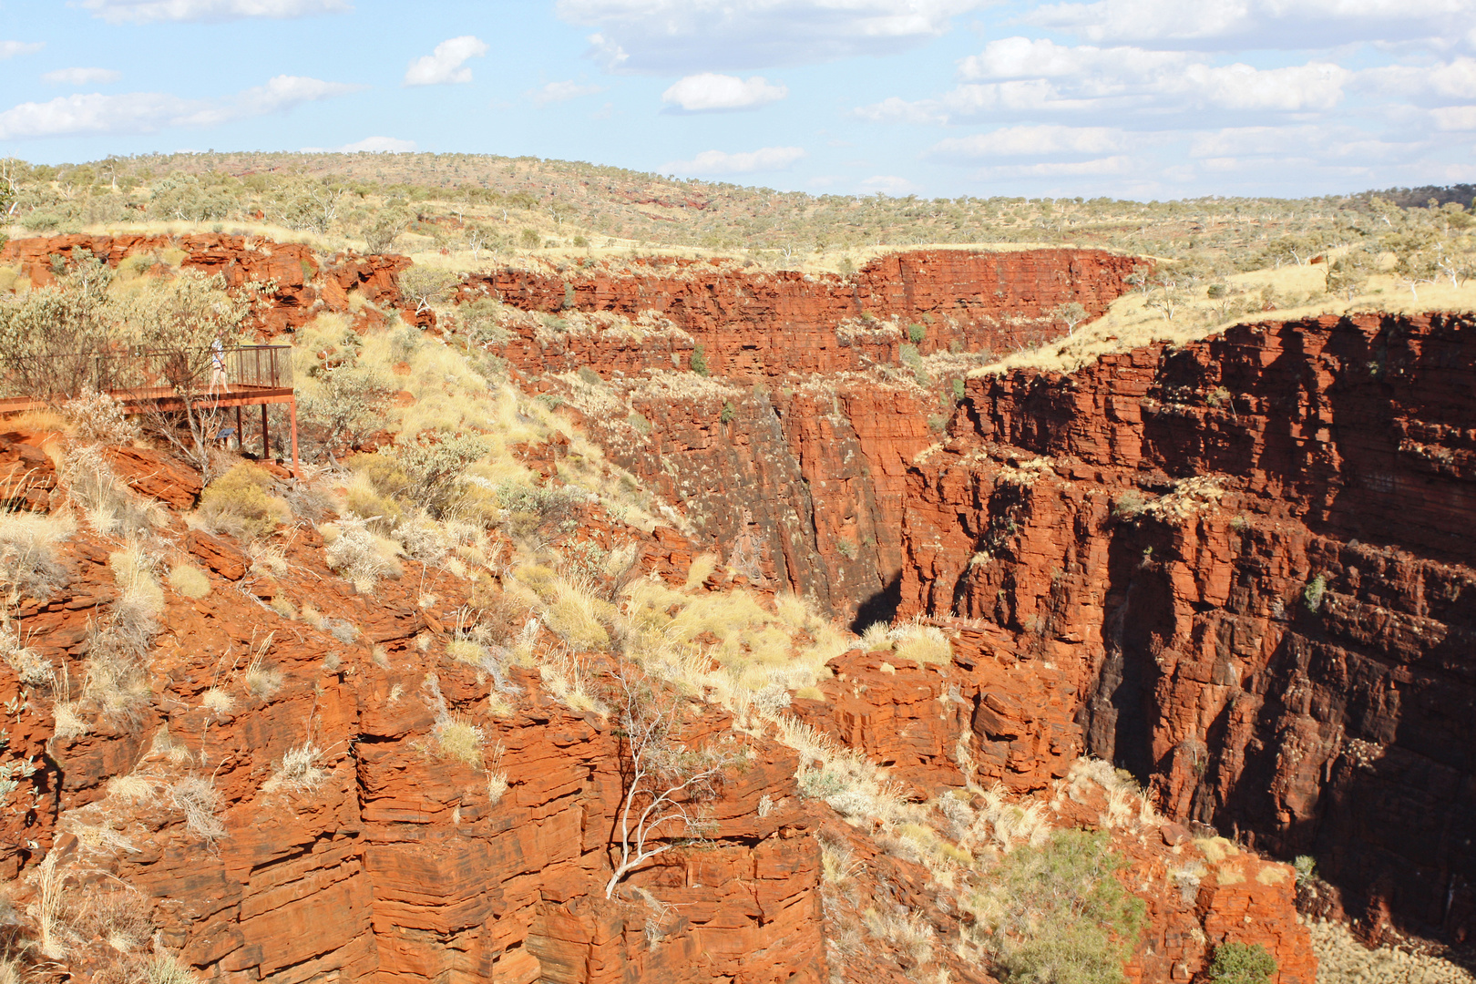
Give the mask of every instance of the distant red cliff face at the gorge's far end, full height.
[[[1132, 270], [1131, 257], [1103, 251], [940, 249], [878, 258], [850, 280], [682, 260], [635, 276], [499, 271], [469, 277], [462, 297], [670, 322], [645, 335], [525, 328], [492, 351], [576, 401], [613, 460], [683, 503], [704, 547], [754, 583], [869, 623], [894, 605], [903, 477], [936, 440], [940, 394], [863, 370], [897, 363], [908, 323], [922, 329], [924, 354], [1058, 336], [1057, 305], [1100, 314]], [[697, 347], [708, 378], [673, 378]], [[583, 401], [536, 379], [582, 369], [602, 384]]]

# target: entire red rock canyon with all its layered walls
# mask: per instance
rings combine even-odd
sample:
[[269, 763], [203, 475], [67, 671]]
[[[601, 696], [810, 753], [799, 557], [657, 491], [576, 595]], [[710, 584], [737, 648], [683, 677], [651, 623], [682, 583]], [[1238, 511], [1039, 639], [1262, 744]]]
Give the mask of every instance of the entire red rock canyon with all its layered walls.
[[[685, 531], [641, 538], [642, 572], [680, 586], [714, 553], [725, 569], [692, 590], [794, 592], [858, 630], [918, 620], [948, 634], [943, 665], [853, 645], [818, 693], [787, 698], [797, 720], [918, 803], [998, 783], [1054, 795], [1058, 823], [1097, 828], [1107, 789], [1075, 782], [1083, 755], [1148, 791], [1162, 817], [1107, 825], [1147, 904], [1135, 984], [1188, 981], [1227, 941], [1265, 946], [1278, 984], [1312, 984], [1297, 879], [1281, 863], [1297, 854], [1331, 884], [1330, 915], [1370, 938], [1461, 941], [1476, 925], [1467, 317], [1266, 320], [1070, 375], [970, 375], [977, 360], [946, 356], [1057, 338], [1061, 304], [1101, 314], [1141, 261], [915, 251], [847, 279], [685, 260], [508, 268], [463, 277], [461, 305], [437, 313], [400, 295], [404, 258], [220, 235], [15, 240], [0, 266], [41, 286], [53, 257], [77, 249], [275, 280], [264, 338], [320, 313], [369, 330], [400, 311], [469, 350], [461, 310], [480, 298], [545, 319], [511, 320], [477, 348], [682, 516]], [[576, 316], [654, 328], [595, 330]], [[931, 358], [930, 378], [905, 364], [905, 345]], [[10, 502], [59, 507], [56, 437], [0, 444], [12, 482], [27, 477]], [[558, 475], [571, 451], [527, 453]], [[232, 981], [908, 980], [906, 953], [837, 954], [828, 938], [834, 844], [872, 898], [959, 932], [924, 865], [803, 792], [801, 752], [701, 699], [683, 741], [737, 736], [748, 766], [711, 800], [701, 847], [605, 898], [617, 729], [523, 667], [505, 682], [512, 713], [489, 717], [486, 673], [434, 658], [471, 600], [463, 581], [422, 568], [368, 596], [325, 565], [310, 524], [282, 568], [264, 567], [184, 522], [198, 478], [167, 454], [111, 460], [168, 506], [164, 538], [213, 590], [165, 592], [154, 699], [128, 726], [62, 738], [50, 701], [0, 665], [7, 758], [38, 763], [34, 807], [4, 820], [7, 876], [34, 878], [46, 856], [77, 872], [66, 891], [121, 903], [117, 885], [130, 885], [154, 900], [159, 946]], [[615, 544], [607, 510], [579, 522], [582, 538]], [[117, 600], [115, 546], [74, 534], [65, 587], [15, 608], [63, 679], [81, 679], [89, 621]], [[277, 599], [329, 617], [283, 620]], [[276, 686], [208, 707], [254, 654]], [[506, 792], [493, 795], [486, 770], [428, 760], [447, 716], [483, 721]], [[322, 775], [273, 785], [306, 744]], [[229, 835], [201, 838], [170, 805], [207, 773]], [[118, 792], [117, 776], [143, 785]], [[1173, 872], [1190, 862], [1203, 875], [1185, 890]], [[103, 980], [108, 959], [93, 944], [74, 968]], [[934, 959], [983, 980], [956, 954]]]

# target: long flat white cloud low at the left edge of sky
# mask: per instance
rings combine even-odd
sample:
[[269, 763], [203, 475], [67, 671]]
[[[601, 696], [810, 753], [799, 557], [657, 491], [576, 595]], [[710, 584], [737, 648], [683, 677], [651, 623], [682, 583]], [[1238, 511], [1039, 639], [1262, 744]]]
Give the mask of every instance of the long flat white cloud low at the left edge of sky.
[[165, 127], [210, 127], [285, 112], [304, 102], [357, 91], [362, 86], [277, 75], [226, 99], [182, 99], [168, 93], [87, 93], [27, 102], [0, 112], [0, 140], [99, 133], [154, 133]]

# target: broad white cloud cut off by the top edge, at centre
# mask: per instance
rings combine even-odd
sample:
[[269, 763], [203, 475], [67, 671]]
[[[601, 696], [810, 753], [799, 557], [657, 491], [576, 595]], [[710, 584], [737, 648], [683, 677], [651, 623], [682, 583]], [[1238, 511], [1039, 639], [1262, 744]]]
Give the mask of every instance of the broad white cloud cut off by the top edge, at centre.
[[558, 0], [610, 69], [711, 71], [892, 55], [998, 0]]

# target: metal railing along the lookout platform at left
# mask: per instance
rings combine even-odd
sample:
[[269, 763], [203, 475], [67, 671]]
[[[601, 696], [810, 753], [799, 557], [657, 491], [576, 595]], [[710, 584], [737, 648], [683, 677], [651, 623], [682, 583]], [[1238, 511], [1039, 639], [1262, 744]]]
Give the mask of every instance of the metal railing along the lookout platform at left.
[[24, 356], [0, 367], [0, 397], [61, 403], [87, 391], [146, 395], [291, 389], [291, 345]]

